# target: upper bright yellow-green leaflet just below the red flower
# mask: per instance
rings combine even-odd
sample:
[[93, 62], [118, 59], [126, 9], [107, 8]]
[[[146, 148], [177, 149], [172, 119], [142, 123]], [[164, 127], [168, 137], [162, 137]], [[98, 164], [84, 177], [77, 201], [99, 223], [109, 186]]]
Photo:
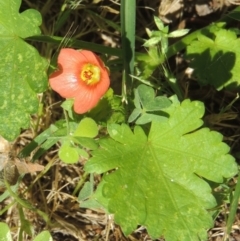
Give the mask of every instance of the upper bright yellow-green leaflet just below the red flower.
[[74, 132], [74, 136], [92, 137], [98, 134], [98, 126], [96, 122], [89, 117], [82, 119]]

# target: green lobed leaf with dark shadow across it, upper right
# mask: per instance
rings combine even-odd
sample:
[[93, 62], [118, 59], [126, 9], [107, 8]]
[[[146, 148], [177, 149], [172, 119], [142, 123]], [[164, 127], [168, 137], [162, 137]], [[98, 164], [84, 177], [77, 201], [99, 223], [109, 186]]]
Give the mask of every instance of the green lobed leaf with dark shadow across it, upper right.
[[194, 75], [202, 85], [213, 85], [218, 90], [239, 88], [240, 40], [234, 31], [218, 29], [210, 38], [199, 34], [187, 47], [186, 58]]

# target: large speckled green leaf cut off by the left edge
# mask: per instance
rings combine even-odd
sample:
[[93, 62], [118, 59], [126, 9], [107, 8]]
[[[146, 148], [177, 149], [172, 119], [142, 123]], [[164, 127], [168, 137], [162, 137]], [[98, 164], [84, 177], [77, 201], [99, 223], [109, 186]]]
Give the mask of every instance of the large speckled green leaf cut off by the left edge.
[[38, 110], [37, 93], [47, 87], [47, 62], [24, 38], [40, 34], [41, 15], [19, 13], [20, 0], [0, 4], [0, 134], [13, 140]]

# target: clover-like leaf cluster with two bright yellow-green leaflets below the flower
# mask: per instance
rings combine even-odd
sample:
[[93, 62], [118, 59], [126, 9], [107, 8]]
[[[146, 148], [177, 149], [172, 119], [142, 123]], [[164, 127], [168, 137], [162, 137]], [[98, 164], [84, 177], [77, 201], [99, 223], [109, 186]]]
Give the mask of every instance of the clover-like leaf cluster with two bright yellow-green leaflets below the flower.
[[83, 118], [79, 124], [60, 120], [37, 136], [20, 152], [19, 156], [30, 156], [31, 152], [37, 149], [32, 158], [36, 160], [59, 141], [61, 142], [58, 153], [60, 159], [68, 164], [76, 163], [80, 157], [89, 157], [85, 149], [95, 150], [98, 147], [93, 139], [97, 134], [97, 124], [89, 117]]

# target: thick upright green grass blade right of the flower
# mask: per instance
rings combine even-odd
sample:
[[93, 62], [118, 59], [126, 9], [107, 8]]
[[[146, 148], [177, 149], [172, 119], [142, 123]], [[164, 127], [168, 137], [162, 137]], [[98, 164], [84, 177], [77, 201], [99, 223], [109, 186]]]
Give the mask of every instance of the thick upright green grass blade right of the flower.
[[123, 54], [123, 100], [131, 93], [135, 59], [136, 0], [121, 1], [121, 39]]

